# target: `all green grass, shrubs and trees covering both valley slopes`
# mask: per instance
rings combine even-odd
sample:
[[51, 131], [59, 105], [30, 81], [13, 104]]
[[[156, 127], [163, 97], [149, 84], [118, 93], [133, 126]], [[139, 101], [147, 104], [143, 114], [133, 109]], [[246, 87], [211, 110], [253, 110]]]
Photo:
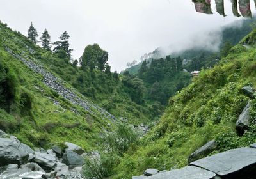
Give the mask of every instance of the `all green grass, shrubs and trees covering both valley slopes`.
[[[131, 178], [152, 167], [182, 167], [191, 153], [211, 139], [218, 144], [211, 154], [256, 142], [255, 99], [250, 100], [250, 128], [237, 136], [234, 127], [249, 100], [241, 88], [256, 87], [255, 31], [234, 47], [234, 40], [223, 43], [216, 54], [193, 49], [143, 61], [138, 73], [127, 70], [122, 75], [111, 72], [108, 52], [97, 44], [88, 45], [79, 60], [71, 61], [69, 38], [63, 33], [52, 53], [46, 31], [42, 37], [45, 46], [40, 48], [33, 39], [0, 23], [1, 130], [29, 146], [47, 148], [50, 143], [61, 146], [69, 141], [87, 152], [99, 150], [100, 157], [86, 158], [86, 178]], [[111, 123], [99, 113], [71, 104], [45, 86], [42, 75], [14, 58], [6, 47], [44, 66], [67, 82], [69, 89], [76, 88], [127, 123]], [[192, 59], [186, 68], [202, 70], [198, 77], [191, 80], [183, 70], [184, 58]], [[140, 123], [156, 125], [139, 139], [129, 124]]]

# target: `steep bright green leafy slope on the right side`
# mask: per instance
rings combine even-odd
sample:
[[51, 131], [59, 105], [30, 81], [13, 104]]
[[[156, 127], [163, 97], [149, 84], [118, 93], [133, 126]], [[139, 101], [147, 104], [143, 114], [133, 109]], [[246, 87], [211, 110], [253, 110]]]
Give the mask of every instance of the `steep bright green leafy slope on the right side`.
[[[256, 87], [255, 56], [255, 43], [236, 45], [214, 68], [202, 70], [192, 84], [170, 99], [161, 121], [140, 146], [125, 154], [116, 167], [116, 178], [140, 175], [148, 168], [161, 171], [186, 166], [189, 155], [212, 139], [217, 148], [210, 155], [255, 143], [256, 100], [241, 90]], [[248, 100], [250, 127], [239, 136], [235, 123]]]

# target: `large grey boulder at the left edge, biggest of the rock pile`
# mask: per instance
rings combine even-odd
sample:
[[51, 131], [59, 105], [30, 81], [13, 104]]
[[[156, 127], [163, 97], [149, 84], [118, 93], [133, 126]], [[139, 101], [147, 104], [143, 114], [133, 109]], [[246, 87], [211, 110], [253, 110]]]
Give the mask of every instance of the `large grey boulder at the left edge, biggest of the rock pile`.
[[23, 164], [28, 161], [28, 156], [19, 140], [0, 138], [0, 166]]

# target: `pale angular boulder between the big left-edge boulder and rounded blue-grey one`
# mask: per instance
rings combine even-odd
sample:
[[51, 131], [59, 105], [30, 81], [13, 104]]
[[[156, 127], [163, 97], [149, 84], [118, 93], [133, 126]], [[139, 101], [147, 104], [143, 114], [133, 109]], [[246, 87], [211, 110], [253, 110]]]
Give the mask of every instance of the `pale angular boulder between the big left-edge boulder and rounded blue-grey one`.
[[39, 164], [43, 169], [53, 169], [57, 163], [57, 160], [55, 155], [35, 152], [35, 158], [33, 159], [33, 162]]

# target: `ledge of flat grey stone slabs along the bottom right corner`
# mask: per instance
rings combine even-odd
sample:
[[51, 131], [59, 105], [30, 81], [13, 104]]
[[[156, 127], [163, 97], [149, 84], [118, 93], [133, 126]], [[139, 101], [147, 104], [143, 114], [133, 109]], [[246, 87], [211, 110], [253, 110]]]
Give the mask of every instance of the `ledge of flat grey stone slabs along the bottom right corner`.
[[152, 176], [133, 176], [132, 179], [255, 179], [256, 144], [205, 157], [189, 165]]

